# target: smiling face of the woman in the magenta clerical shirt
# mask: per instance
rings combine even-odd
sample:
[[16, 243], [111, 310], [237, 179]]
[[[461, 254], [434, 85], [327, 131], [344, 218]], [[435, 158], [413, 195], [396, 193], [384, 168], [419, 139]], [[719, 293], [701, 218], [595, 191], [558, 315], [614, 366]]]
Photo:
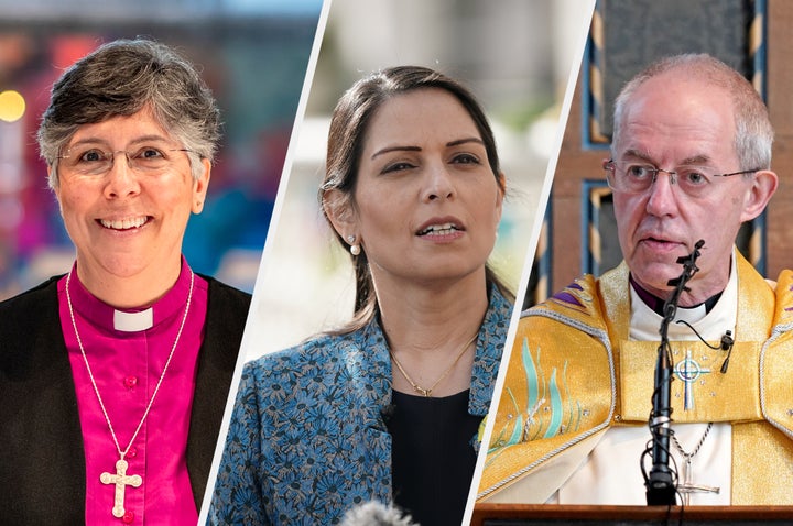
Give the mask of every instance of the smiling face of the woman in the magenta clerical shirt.
[[[210, 168], [204, 161], [195, 180], [187, 153], [173, 151], [183, 147], [148, 109], [85, 124], [66, 145], [55, 194], [80, 281], [94, 294], [140, 278], [154, 298], [175, 282], [187, 220], [203, 208]], [[116, 152], [104, 173], [91, 168], [100, 152]], [[123, 152], [156, 169], [130, 168]], [[160, 152], [166, 162], [151, 161]]]

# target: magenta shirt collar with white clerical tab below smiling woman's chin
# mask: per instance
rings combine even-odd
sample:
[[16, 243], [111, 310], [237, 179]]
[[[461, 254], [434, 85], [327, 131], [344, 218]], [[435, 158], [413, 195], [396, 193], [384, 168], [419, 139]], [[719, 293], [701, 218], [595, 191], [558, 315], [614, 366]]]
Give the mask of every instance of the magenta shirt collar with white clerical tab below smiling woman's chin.
[[[75, 263], [73, 275], [77, 276]], [[79, 277], [79, 276], [77, 276]], [[184, 311], [189, 291], [191, 271], [182, 259], [182, 271], [174, 286], [154, 305], [145, 308], [117, 309], [101, 302], [83, 286], [79, 278], [72, 280], [72, 300], [75, 310], [90, 320], [96, 328], [119, 332], [139, 332], [149, 330], [172, 316]]]

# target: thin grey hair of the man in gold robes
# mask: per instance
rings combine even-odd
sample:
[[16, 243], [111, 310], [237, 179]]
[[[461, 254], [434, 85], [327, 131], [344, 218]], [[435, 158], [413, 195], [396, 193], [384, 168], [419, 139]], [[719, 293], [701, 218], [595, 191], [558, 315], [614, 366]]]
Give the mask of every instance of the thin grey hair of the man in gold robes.
[[741, 74], [705, 53], [661, 58], [622, 88], [615, 102], [611, 156], [616, 155], [615, 144], [619, 142], [626, 108], [630, 106], [633, 94], [651, 78], [673, 70], [678, 70], [688, 78], [706, 80], [710, 86], [721, 88], [729, 94], [736, 125], [734, 146], [740, 169], [769, 169], [774, 132], [765, 103]]

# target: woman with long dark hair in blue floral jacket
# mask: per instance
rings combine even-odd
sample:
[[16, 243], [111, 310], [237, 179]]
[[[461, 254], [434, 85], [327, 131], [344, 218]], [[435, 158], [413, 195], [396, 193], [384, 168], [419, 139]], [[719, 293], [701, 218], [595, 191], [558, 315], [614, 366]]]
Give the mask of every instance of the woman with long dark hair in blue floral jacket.
[[246, 365], [216, 524], [335, 524], [369, 501], [459, 525], [513, 298], [487, 265], [504, 178], [478, 102], [404, 66], [359, 80], [322, 207], [356, 269], [352, 320]]

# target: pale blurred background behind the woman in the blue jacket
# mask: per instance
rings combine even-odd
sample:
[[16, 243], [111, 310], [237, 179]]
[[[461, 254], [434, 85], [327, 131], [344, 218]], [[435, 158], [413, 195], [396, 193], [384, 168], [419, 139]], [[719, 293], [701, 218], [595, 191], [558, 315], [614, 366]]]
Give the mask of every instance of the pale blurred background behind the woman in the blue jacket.
[[485, 107], [508, 185], [491, 265], [518, 291], [539, 235], [562, 100], [591, 7], [583, 0], [333, 0], [243, 352], [253, 358], [295, 344], [351, 316], [351, 265], [325, 224], [317, 188], [336, 101], [356, 80], [389, 66], [438, 69]]

